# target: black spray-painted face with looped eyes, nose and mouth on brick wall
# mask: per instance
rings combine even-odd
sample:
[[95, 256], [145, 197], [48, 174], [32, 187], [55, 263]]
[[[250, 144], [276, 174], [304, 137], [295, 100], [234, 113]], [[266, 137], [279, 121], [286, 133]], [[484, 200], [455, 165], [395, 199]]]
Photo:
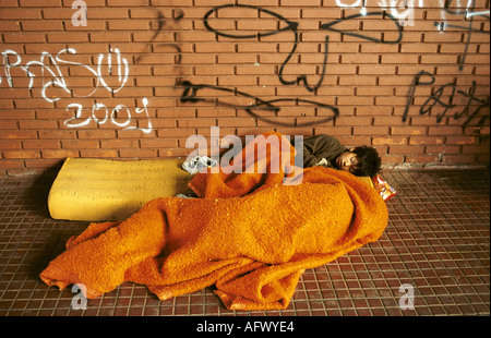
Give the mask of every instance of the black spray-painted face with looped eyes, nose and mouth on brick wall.
[[[215, 28], [213, 23], [211, 23], [211, 16], [214, 13], [217, 13], [219, 11], [224, 11], [231, 8], [240, 8], [242, 11], [259, 11], [264, 16], [272, 16], [277, 20], [279, 20], [284, 25], [283, 28], [271, 31], [266, 33], [262, 32], [248, 32], [247, 34], [239, 35], [239, 34], [230, 34], [227, 32], [221, 32], [218, 28]], [[383, 13], [383, 12], [374, 12], [374, 13], [368, 13], [366, 15], [373, 16], [373, 17], [380, 17], [382, 20], [388, 20], [395, 27], [395, 29], [398, 32], [398, 36], [394, 40], [382, 40], [381, 38], [376, 38], [371, 36], [370, 34], [356, 34], [352, 32], [343, 32], [342, 29], [337, 28], [337, 24], [346, 21], [352, 21], [357, 20], [361, 16], [361, 14], [355, 14], [350, 15], [348, 17], [332, 21], [328, 23], [325, 23], [322, 25], [323, 31], [327, 32], [334, 32], [334, 33], [343, 33], [346, 35], [355, 36], [371, 43], [378, 43], [378, 44], [397, 44], [400, 41], [403, 37], [403, 32], [399, 25], [399, 22], [393, 17], [391, 14]], [[219, 16], [219, 15], [218, 15]], [[323, 46], [323, 62], [321, 67], [320, 74], [316, 75], [318, 80], [310, 80], [307, 75], [301, 74], [296, 76], [295, 79], [290, 80], [287, 75], [285, 75], [285, 69], [289, 67], [289, 62], [292, 59], [295, 52], [297, 51], [298, 44], [299, 44], [299, 32], [298, 26], [299, 24], [297, 22], [289, 21], [285, 19], [284, 16], [279, 15], [278, 13], [275, 13], [273, 11], [262, 9], [254, 5], [248, 5], [248, 4], [225, 4], [225, 5], [218, 5], [209, 10], [203, 19], [204, 26], [209, 31], [215, 33], [217, 36], [221, 36], [229, 39], [248, 39], [253, 37], [267, 37], [273, 36], [280, 33], [291, 33], [291, 50], [283, 61], [283, 63], [279, 67], [278, 71], [278, 80], [283, 85], [301, 85], [304, 89], [308, 92], [315, 92], [319, 87], [322, 86], [322, 83], [324, 82], [324, 79], [326, 77], [326, 70], [327, 70], [327, 59], [328, 59], [328, 45], [330, 45], [330, 36], [325, 35], [324, 46]], [[179, 86], [183, 87], [183, 93], [181, 96], [182, 102], [199, 102], [199, 101], [209, 101], [215, 102], [219, 106], [226, 106], [226, 107], [233, 107], [237, 109], [243, 109], [247, 111], [250, 116], [256, 118], [258, 120], [265, 121], [267, 123], [276, 124], [276, 125], [283, 125], [283, 126], [306, 126], [306, 125], [315, 125], [320, 123], [325, 123], [328, 121], [334, 120], [339, 116], [339, 109], [332, 105], [326, 105], [323, 102], [319, 102], [315, 100], [306, 100], [300, 98], [288, 98], [288, 99], [274, 99], [274, 100], [265, 100], [258, 96], [250, 95], [248, 93], [243, 93], [236, 89], [230, 89], [227, 87], [221, 86], [215, 86], [215, 85], [204, 85], [204, 84], [193, 84], [191, 81], [180, 81]], [[214, 97], [214, 93], [219, 94], [223, 92], [229, 92], [233, 93], [236, 97], [239, 98], [249, 98], [249, 101], [244, 105], [236, 105], [231, 102], [227, 102], [223, 98], [218, 98], [218, 95]], [[202, 96], [199, 95], [202, 94]], [[296, 102], [298, 105], [302, 106], [311, 106], [318, 109], [319, 116], [323, 117], [322, 119], [319, 119], [315, 122], [279, 122], [275, 121], [273, 117], [277, 116], [277, 113], [280, 111], [279, 106], [283, 102]]]

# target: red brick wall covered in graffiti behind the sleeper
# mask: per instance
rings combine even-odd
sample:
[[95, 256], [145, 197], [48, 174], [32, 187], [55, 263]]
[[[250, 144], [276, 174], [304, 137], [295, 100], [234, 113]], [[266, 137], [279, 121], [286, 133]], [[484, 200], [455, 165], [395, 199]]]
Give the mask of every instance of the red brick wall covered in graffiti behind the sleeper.
[[1, 0], [0, 174], [185, 156], [211, 126], [488, 165], [489, 2]]

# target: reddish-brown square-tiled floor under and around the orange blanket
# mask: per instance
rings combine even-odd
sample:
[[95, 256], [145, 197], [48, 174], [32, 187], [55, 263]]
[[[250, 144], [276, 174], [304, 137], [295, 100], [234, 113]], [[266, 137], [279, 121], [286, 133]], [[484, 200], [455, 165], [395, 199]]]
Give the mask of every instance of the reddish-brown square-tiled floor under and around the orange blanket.
[[[383, 177], [397, 190], [384, 236], [307, 270], [288, 309], [271, 312], [228, 311], [209, 288], [160, 302], [129, 282], [76, 310], [77, 290], [48, 288], [38, 274], [87, 222], [49, 218], [51, 176], [0, 177], [0, 316], [489, 315], [489, 171]], [[404, 310], [411, 293], [414, 309]]]

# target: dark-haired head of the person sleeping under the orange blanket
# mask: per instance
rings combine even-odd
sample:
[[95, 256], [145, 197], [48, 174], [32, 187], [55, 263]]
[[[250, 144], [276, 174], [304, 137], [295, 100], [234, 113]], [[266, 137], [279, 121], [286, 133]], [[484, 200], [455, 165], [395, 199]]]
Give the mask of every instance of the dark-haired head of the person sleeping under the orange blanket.
[[373, 178], [381, 169], [381, 158], [375, 148], [369, 146], [358, 146], [349, 152], [340, 154], [336, 160], [336, 166], [356, 176], [368, 176]]

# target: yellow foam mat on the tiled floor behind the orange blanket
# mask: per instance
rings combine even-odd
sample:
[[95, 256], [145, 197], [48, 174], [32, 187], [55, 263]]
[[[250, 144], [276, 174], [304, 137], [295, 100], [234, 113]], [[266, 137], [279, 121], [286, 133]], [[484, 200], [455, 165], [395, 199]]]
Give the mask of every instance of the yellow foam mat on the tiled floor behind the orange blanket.
[[153, 198], [190, 192], [183, 161], [68, 158], [49, 192], [49, 213], [55, 219], [125, 219]]

